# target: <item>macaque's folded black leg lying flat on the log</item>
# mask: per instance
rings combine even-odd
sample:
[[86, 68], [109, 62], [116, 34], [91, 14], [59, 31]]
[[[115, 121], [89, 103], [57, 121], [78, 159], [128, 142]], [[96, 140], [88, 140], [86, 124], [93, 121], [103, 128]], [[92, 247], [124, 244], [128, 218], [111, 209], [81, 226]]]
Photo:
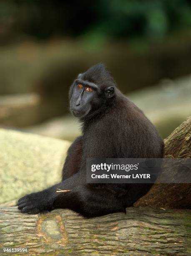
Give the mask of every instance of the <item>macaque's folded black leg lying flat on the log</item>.
[[74, 210], [86, 218], [126, 212], [122, 200], [115, 193], [106, 188], [93, 188], [89, 185], [60, 193], [53, 202], [53, 207]]

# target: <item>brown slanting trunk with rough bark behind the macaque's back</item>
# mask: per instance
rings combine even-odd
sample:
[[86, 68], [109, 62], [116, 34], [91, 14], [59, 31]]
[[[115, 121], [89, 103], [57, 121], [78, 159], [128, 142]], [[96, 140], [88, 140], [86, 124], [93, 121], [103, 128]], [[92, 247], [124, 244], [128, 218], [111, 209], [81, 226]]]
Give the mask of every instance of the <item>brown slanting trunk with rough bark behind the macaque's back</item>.
[[[164, 143], [164, 157], [191, 158], [191, 117], [178, 126]], [[173, 170], [166, 171], [172, 171], [173, 175]], [[134, 203], [134, 206], [191, 209], [191, 184], [154, 184], [145, 196]]]

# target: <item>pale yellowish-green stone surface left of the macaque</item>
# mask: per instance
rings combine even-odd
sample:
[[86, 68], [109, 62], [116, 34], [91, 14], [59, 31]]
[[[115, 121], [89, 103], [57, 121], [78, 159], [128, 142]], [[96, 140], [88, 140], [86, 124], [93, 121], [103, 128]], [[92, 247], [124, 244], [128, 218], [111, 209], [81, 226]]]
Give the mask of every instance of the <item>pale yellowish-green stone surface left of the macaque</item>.
[[60, 181], [70, 142], [0, 129], [0, 203]]

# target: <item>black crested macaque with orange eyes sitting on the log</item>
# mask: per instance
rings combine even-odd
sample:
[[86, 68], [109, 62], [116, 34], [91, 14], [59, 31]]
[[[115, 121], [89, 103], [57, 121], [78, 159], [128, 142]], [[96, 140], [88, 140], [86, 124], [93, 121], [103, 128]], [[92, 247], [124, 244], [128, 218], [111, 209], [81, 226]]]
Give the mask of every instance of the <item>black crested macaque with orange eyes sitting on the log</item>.
[[[86, 218], [126, 212], [152, 184], [86, 184], [87, 158], [162, 158], [156, 128], [120, 90], [103, 64], [79, 74], [69, 91], [82, 135], [68, 149], [62, 181], [18, 200], [21, 212], [68, 208]], [[58, 189], [70, 190], [57, 193]]]

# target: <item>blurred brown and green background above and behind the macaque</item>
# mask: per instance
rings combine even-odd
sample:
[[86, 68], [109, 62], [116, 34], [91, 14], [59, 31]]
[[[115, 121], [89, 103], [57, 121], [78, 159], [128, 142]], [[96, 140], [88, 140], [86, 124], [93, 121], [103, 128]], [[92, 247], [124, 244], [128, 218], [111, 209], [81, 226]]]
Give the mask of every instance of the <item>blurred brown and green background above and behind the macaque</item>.
[[0, 127], [72, 141], [68, 89], [98, 62], [166, 138], [191, 115], [191, 2], [0, 0]]

